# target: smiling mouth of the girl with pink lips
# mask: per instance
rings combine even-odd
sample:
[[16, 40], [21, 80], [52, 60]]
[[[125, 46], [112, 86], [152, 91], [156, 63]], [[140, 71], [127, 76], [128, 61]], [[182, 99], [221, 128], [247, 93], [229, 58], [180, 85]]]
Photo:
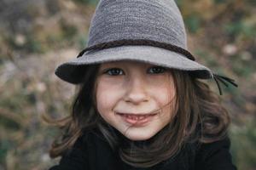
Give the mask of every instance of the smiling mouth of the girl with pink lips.
[[157, 113], [153, 114], [131, 114], [131, 113], [117, 113], [123, 118], [125, 122], [128, 122], [132, 125], [143, 125], [147, 122], [150, 122]]

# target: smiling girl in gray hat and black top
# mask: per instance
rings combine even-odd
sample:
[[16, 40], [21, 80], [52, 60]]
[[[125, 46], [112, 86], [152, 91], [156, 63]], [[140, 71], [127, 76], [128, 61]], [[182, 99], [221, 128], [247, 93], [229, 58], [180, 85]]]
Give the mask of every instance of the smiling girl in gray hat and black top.
[[[172, 0], [102, 0], [88, 48], [55, 74], [77, 84], [50, 170], [234, 170], [230, 116], [207, 83], [227, 82], [189, 53]], [[226, 82], [225, 82], [226, 81]]]

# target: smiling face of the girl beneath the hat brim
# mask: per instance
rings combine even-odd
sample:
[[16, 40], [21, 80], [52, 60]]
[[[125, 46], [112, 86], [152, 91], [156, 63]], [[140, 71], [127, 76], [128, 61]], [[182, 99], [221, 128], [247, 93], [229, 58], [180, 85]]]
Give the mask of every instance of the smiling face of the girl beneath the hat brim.
[[102, 118], [131, 140], [146, 140], [174, 116], [176, 90], [171, 71], [137, 61], [100, 66], [96, 109]]

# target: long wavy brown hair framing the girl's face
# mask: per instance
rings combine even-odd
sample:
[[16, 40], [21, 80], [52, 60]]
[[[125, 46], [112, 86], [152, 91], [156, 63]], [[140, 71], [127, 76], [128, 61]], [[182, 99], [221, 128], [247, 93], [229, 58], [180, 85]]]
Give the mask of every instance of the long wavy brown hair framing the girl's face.
[[[111, 127], [96, 111], [95, 82], [100, 65], [86, 66], [83, 83], [73, 100], [71, 116], [54, 122], [63, 131], [49, 150], [51, 157], [62, 156], [72, 148], [84, 130], [97, 127], [120, 158], [134, 167], [152, 167], [171, 156], [175, 156], [187, 142], [212, 143], [224, 138], [230, 124], [230, 116], [220, 104], [207, 83], [193, 77], [193, 71], [172, 70], [176, 94], [176, 115], [147, 145], [131, 142], [128, 147], [120, 143]], [[110, 127], [110, 128], [109, 128]], [[132, 148], [132, 150], [131, 150]]]

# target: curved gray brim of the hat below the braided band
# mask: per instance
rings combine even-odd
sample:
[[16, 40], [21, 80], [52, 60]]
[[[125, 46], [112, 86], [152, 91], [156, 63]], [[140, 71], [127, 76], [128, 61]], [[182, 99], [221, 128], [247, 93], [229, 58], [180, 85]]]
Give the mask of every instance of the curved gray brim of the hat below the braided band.
[[183, 54], [178, 54], [165, 48], [137, 45], [87, 51], [79, 58], [59, 65], [55, 69], [55, 75], [66, 82], [78, 84], [82, 81], [86, 65], [125, 59], [189, 71], [194, 77], [201, 79], [213, 77], [210, 69], [186, 58]]

